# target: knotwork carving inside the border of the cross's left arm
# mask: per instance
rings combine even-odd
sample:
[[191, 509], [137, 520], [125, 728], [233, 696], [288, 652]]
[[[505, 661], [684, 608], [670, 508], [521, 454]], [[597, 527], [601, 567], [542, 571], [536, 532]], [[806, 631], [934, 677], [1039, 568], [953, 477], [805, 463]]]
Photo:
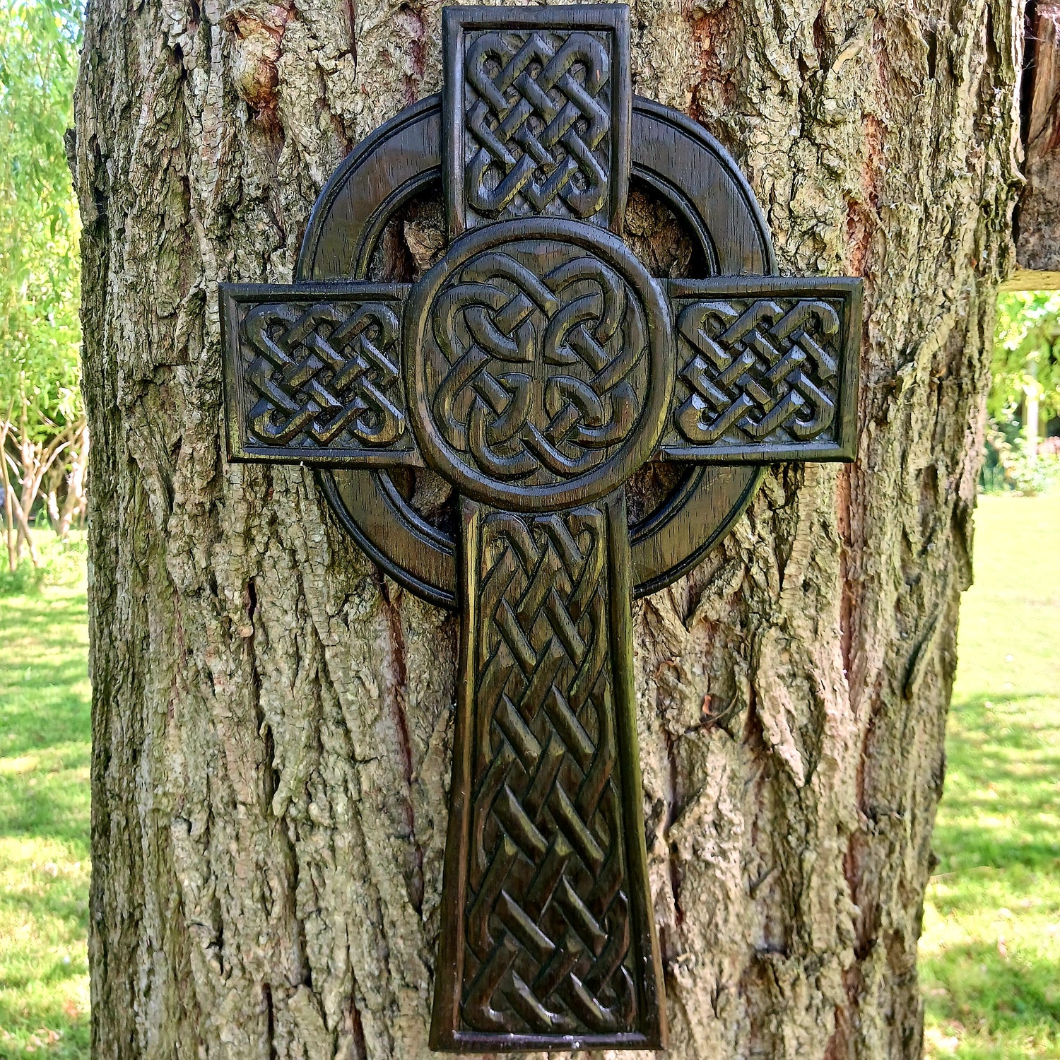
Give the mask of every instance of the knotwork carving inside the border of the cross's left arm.
[[382, 302], [257, 305], [243, 319], [251, 444], [383, 447], [405, 430], [399, 321]]

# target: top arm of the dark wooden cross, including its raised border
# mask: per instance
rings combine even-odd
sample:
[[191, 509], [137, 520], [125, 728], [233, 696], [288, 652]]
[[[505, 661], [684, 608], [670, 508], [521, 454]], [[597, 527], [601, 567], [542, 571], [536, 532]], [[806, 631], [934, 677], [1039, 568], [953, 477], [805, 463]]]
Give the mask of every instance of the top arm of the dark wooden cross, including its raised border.
[[620, 227], [625, 8], [510, 14], [445, 11], [453, 231], [543, 215]]

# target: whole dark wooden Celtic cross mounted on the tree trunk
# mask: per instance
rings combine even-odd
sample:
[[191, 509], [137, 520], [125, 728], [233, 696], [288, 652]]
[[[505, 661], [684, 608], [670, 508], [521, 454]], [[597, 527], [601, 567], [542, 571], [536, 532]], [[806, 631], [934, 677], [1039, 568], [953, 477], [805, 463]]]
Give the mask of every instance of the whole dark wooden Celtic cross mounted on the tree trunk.
[[[229, 457], [321, 469], [369, 555], [461, 613], [431, 1045], [659, 1047], [631, 601], [763, 463], [852, 458], [861, 283], [768, 275], [731, 159], [634, 98], [626, 7], [450, 7], [443, 49], [441, 98], [321, 192], [297, 282], [222, 286]], [[695, 278], [623, 241], [631, 186]], [[437, 263], [368, 282], [430, 195]]]

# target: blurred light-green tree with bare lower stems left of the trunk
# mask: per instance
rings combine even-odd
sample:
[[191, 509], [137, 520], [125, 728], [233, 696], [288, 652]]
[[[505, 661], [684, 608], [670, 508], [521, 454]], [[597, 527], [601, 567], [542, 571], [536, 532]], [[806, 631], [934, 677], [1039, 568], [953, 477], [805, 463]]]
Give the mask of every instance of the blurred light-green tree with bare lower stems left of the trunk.
[[64, 149], [81, 11], [0, 0], [0, 490], [8, 565], [34, 513], [66, 536], [85, 510], [80, 220]]

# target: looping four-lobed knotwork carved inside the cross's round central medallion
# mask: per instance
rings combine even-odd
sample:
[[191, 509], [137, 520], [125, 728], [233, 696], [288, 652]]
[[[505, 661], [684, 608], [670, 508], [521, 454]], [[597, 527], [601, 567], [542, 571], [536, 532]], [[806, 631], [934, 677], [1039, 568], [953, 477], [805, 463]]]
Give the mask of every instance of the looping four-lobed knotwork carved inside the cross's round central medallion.
[[643, 312], [596, 258], [568, 254], [538, 279], [510, 253], [481, 253], [439, 294], [431, 331], [439, 430], [491, 478], [584, 474], [637, 421]]

